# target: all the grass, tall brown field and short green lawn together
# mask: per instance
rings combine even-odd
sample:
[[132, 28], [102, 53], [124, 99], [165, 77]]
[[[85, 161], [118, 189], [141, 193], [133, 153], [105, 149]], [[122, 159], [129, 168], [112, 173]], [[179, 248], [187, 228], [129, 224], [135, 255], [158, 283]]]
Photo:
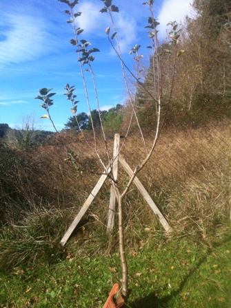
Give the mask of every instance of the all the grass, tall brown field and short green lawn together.
[[[231, 156], [230, 143], [221, 140], [229, 140], [230, 126], [203, 133], [163, 135], [139, 174], [173, 227], [168, 236], [134, 186], [126, 196], [129, 307], [231, 307]], [[123, 148], [130, 164], [133, 149], [140, 151], [138, 139], [131, 137]], [[30, 155], [3, 151], [0, 307], [103, 307], [121, 279], [117, 221], [111, 241], [106, 232], [108, 184], [65, 249], [59, 245], [99, 169], [94, 157], [81, 153], [74, 169], [65, 162], [65, 149], [52, 142]], [[121, 186], [125, 178], [120, 170]]]

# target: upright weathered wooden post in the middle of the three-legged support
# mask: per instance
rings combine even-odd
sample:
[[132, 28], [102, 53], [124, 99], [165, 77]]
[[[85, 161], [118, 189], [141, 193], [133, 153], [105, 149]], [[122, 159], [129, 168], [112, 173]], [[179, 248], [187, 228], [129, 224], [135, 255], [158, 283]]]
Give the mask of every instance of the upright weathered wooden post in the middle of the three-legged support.
[[[119, 133], [114, 135], [114, 148], [113, 148], [113, 163], [112, 163], [112, 175], [114, 181], [117, 181], [118, 175], [118, 162], [119, 162]], [[111, 185], [110, 188], [110, 201], [109, 201], [109, 210], [108, 210], [108, 231], [112, 231], [114, 227], [114, 214], [116, 212], [116, 201], [117, 197], [114, 192], [114, 188]]]

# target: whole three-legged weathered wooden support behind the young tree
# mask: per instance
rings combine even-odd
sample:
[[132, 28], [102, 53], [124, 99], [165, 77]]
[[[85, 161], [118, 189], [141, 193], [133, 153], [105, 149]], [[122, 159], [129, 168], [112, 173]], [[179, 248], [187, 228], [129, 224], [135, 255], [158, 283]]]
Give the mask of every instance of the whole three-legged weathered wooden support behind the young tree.
[[[72, 224], [68, 228], [68, 231], [66, 232], [66, 234], [64, 234], [63, 239], [61, 239], [60, 243], [61, 243], [62, 246], [64, 246], [66, 244], [66, 242], [68, 241], [68, 239], [70, 238], [70, 235], [72, 234], [72, 232], [76, 228], [77, 224], [79, 223], [79, 221], [81, 220], [83, 215], [88, 210], [88, 208], [89, 208], [90, 204], [92, 203], [92, 201], [94, 200], [94, 198], [97, 196], [97, 193], [99, 192], [99, 190], [103, 186], [103, 183], [106, 181], [106, 179], [107, 179], [107, 177], [108, 177], [108, 175], [111, 171], [112, 171], [112, 180], [117, 181], [118, 162], [121, 163], [121, 166], [123, 166], [124, 170], [128, 173], [128, 175], [132, 176], [132, 173], [133, 173], [132, 169], [130, 168], [128, 163], [125, 162], [125, 159], [123, 158], [123, 156], [121, 154], [119, 154], [119, 137], [120, 137], [119, 134], [114, 135], [114, 149], [113, 149], [112, 166], [108, 166], [108, 169], [107, 169], [108, 173], [103, 173], [101, 175], [99, 181], [97, 182], [97, 185], [94, 186], [94, 189], [90, 193], [88, 199], [86, 199], [85, 203], [83, 204], [83, 207], [81, 208], [81, 210], [77, 214], [77, 217], [74, 219], [74, 221], [72, 222]], [[160, 212], [159, 208], [154, 203], [154, 201], [152, 200], [152, 198], [148, 194], [147, 190], [145, 190], [145, 188], [141, 184], [141, 181], [139, 181], [138, 177], [134, 178], [134, 184], [137, 186], [138, 190], [141, 192], [144, 199], [148, 202], [148, 204], [149, 204], [150, 208], [152, 208], [152, 211], [154, 212], [154, 214], [156, 214], [157, 217], [159, 218], [159, 221], [160, 221], [161, 225], [163, 225], [164, 230], [166, 232], [170, 231], [171, 228], [170, 228], [170, 225], [168, 224], [168, 221], [166, 221], [166, 219], [163, 217], [163, 214]], [[109, 212], [108, 212], [108, 230], [109, 231], [111, 231], [113, 229], [113, 226], [114, 226], [114, 214], [115, 214], [115, 211], [116, 211], [116, 200], [117, 200], [117, 198], [116, 198], [116, 195], [115, 195], [115, 192], [114, 192], [114, 188], [113, 188], [113, 186], [111, 186], [111, 189], [110, 189], [110, 204], [109, 204]]]

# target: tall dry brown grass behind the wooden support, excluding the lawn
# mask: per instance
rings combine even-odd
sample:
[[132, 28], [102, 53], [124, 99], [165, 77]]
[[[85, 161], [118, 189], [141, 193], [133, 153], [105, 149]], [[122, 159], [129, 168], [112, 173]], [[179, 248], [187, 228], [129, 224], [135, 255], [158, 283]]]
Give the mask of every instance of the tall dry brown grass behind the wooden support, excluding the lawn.
[[[150, 162], [138, 177], [173, 228], [172, 236], [212, 241], [230, 228], [230, 123], [201, 129], [166, 129]], [[79, 135], [63, 135], [77, 154], [67, 160], [59, 137], [50, 137], [36, 151], [1, 148], [0, 264], [14, 266], [46, 256], [64, 256], [59, 241], [103, 172], [94, 144]], [[89, 142], [92, 136], [88, 135]], [[150, 146], [150, 133], [147, 135]], [[122, 142], [123, 140], [121, 140]], [[101, 137], [99, 151], [105, 151]], [[113, 140], [108, 138], [112, 151]], [[141, 138], [133, 134], [121, 152], [130, 166], [144, 155]], [[3, 157], [2, 156], [2, 157]], [[10, 160], [9, 160], [10, 159]], [[9, 162], [11, 162], [9, 164]], [[3, 175], [5, 173], [5, 175]], [[123, 188], [128, 175], [119, 168]], [[117, 250], [117, 219], [106, 232], [110, 181], [106, 182], [67, 245], [72, 254], [108, 254]], [[159, 242], [157, 217], [132, 186], [125, 199], [125, 241], [132, 250]], [[82, 228], [84, 226], [84, 228]], [[10, 260], [8, 255], [14, 256]], [[17, 257], [17, 255], [19, 257]]]

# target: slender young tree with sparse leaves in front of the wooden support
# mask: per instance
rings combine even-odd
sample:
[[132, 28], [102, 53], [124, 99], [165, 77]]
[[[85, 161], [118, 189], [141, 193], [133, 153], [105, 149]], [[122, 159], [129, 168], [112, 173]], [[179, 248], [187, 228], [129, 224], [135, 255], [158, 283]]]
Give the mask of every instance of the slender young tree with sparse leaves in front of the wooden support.
[[[123, 80], [125, 83], [125, 88], [127, 89], [128, 93], [128, 104], [130, 104], [130, 108], [132, 110], [130, 121], [128, 122], [127, 131], [125, 133], [125, 138], [123, 140], [123, 143], [121, 144], [119, 148], [119, 153], [121, 152], [121, 149], [123, 148], [125, 142], [128, 140], [129, 133], [130, 133], [130, 127], [134, 120], [134, 122], [137, 124], [137, 133], [141, 136], [141, 140], [143, 143], [143, 153], [144, 158], [139, 160], [139, 157], [137, 157], [137, 166], [134, 167], [132, 170], [132, 173], [130, 175], [130, 178], [126, 182], [125, 185], [119, 186], [119, 182], [113, 177], [113, 173], [111, 173], [112, 169], [112, 159], [110, 157], [110, 153], [108, 151], [108, 143], [106, 140], [105, 135], [105, 129], [103, 126], [103, 113], [100, 111], [99, 107], [99, 100], [98, 100], [98, 94], [97, 94], [97, 84], [94, 77], [94, 69], [92, 67], [92, 62], [94, 61], [93, 54], [95, 52], [99, 52], [99, 50], [95, 47], [91, 47], [91, 44], [86, 39], [81, 39], [83, 29], [77, 28], [76, 26], [76, 19], [80, 16], [81, 12], [77, 12], [74, 8], [79, 3], [79, 0], [59, 0], [62, 3], [66, 3], [68, 5], [68, 10], [65, 10], [64, 12], [68, 14], [69, 20], [68, 23], [72, 24], [72, 28], [74, 30], [74, 39], [70, 40], [70, 43], [77, 48], [77, 55], [79, 57], [79, 65], [80, 65], [80, 71], [83, 78], [83, 87], [86, 91], [86, 100], [88, 104], [89, 109], [89, 126], [92, 128], [93, 135], [94, 135], [94, 154], [96, 155], [97, 159], [99, 159], [99, 162], [101, 162], [103, 169], [104, 169], [104, 175], [106, 175], [108, 178], [112, 181], [112, 187], [113, 190], [117, 196], [117, 202], [118, 202], [118, 217], [119, 217], [119, 252], [121, 256], [121, 266], [122, 266], [122, 293], [125, 300], [128, 298], [128, 265], [127, 260], [125, 256], [125, 241], [124, 241], [124, 221], [123, 221], [123, 201], [125, 199], [125, 196], [127, 195], [128, 191], [130, 190], [130, 187], [132, 186], [132, 183], [137, 176], [137, 174], [143, 169], [143, 167], [148, 164], [148, 161], [154, 151], [154, 148], [157, 145], [157, 141], [159, 140], [160, 134], [161, 134], [161, 126], [163, 125], [163, 121], [165, 119], [165, 113], [168, 111], [168, 106], [170, 104], [171, 94], [172, 94], [172, 88], [174, 84], [174, 74], [172, 75], [172, 80], [170, 82], [170, 95], [168, 96], [168, 102], [165, 102], [165, 112], [162, 114], [163, 109], [163, 89], [162, 89], [162, 67], [161, 67], [161, 61], [162, 61], [162, 55], [161, 55], [161, 49], [159, 47], [159, 41], [157, 38], [157, 27], [159, 23], [154, 18], [154, 11], [153, 11], [153, 5], [154, 0], [149, 0], [143, 3], [143, 5], [147, 5], [150, 10], [150, 17], [148, 17], [148, 25], [145, 26], [145, 28], [148, 30], [148, 36], [150, 38], [150, 46], [148, 48], [152, 50], [152, 71], [151, 74], [153, 76], [152, 78], [152, 91], [150, 89], [146, 89], [145, 86], [143, 86], [143, 89], [145, 92], [148, 93], [150, 96], [153, 104], [154, 109], [154, 121], [153, 126], [150, 128], [150, 135], [152, 135], [152, 144], [151, 146], [148, 146], [145, 141], [145, 137], [143, 135], [143, 131], [141, 128], [141, 124], [139, 122], [139, 117], [137, 115], [137, 87], [138, 85], [141, 85], [139, 81], [139, 77], [141, 74], [141, 58], [143, 57], [142, 54], [140, 54], [139, 49], [140, 45], [135, 45], [132, 47], [130, 54], [134, 56], [134, 62], [135, 62], [135, 72], [133, 73], [131, 69], [128, 68], [128, 66], [124, 63], [123, 57], [121, 55], [121, 48], [119, 44], [119, 36], [117, 35], [117, 29], [116, 25], [114, 23], [114, 13], [119, 12], [119, 8], [112, 4], [112, 0], [101, 0], [103, 1], [103, 8], [101, 9], [101, 13], [107, 13], [110, 17], [111, 23], [112, 23], [112, 34], [110, 34], [111, 29], [110, 27], [106, 28], [106, 35], [108, 37], [108, 42], [112, 46], [114, 52], [116, 52], [119, 61], [121, 63], [121, 69], [123, 74]], [[175, 28], [175, 24], [172, 24], [172, 34], [171, 34], [171, 41], [174, 45], [173, 52], [174, 52], [174, 61], [172, 63], [173, 65], [173, 72], [175, 70], [175, 58], [177, 56], [177, 44], [179, 43], [179, 32]], [[116, 41], [114, 45], [114, 41]], [[83, 69], [83, 66], [86, 67], [86, 69]], [[131, 91], [128, 87], [128, 80], [126, 78], [126, 72], [127, 70], [129, 74], [131, 74], [132, 78], [134, 79], [134, 91]], [[97, 111], [90, 109], [90, 99], [88, 96], [88, 86], [86, 84], [86, 78], [85, 74], [91, 74], [92, 76], [92, 84], [94, 88], [94, 94], [95, 94], [95, 100], [97, 103]], [[142, 85], [141, 85], [142, 87]], [[72, 113], [74, 114], [74, 117], [77, 121], [77, 126], [79, 127], [79, 130], [81, 130], [81, 125], [78, 121], [77, 116], [75, 115], [77, 112], [77, 103], [78, 101], [75, 100], [77, 96], [74, 95], [74, 87], [70, 87], [69, 85], [65, 88], [67, 90], [66, 95], [68, 96], [68, 99], [72, 102]], [[154, 90], [153, 90], [154, 89]], [[37, 98], [43, 101], [43, 104], [41, 106], [46, 109], [48, 114], [43, 115], [43, 118], [50, 118], [50, 106], [52, 106], [53, 101], [50, 100], [50, 97], [53, 96], [53, 93], [49, 94], [50, 89], [41, 89], [39, 90], [40, 96]], [[53, 122], [52, 122], [53, 123]], [[103, 140], [105, 144], [105, 153], [107, 159], [104, 159], [101, 157], [98, 146], [97, 146], [97, 135], [96, 130], [101, 129], [101, 133], [103, 135]], [[83, 134], [84, 138], [84, 131], [81, 130], [81, 133]], [[86, 139], [85, 139], [86, 140]], [[88, 141], [86, 140], [88, 143]], [[92, 148], [90, 147], [90, 150]], [[105, 155], [103, 155], [105, 156]], [[108, 168], [109, 166], [109, 168]]]

